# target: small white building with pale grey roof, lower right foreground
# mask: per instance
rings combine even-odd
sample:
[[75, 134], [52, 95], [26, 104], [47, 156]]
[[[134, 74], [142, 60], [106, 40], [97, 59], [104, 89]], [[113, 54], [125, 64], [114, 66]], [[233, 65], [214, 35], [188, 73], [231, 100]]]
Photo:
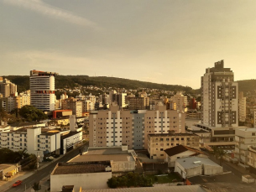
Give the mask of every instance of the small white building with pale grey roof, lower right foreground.
[[209, 158], [188, 157], [175, 161], [175, 172], [186, 179], [196, 175], [222, 174], [223, 168]]

